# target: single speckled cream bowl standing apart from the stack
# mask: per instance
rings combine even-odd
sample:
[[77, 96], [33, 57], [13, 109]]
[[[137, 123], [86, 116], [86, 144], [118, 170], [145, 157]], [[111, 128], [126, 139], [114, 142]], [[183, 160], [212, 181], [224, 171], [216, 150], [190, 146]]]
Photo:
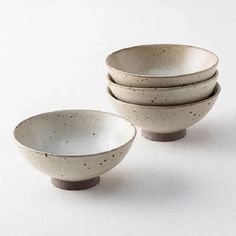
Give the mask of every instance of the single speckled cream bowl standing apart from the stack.
[[67, 190], [86, 189], [115, 167], [136, 135], [127, 120], [100, 111], [64, 110], [22, 121], [14, 136], [26, 160]]

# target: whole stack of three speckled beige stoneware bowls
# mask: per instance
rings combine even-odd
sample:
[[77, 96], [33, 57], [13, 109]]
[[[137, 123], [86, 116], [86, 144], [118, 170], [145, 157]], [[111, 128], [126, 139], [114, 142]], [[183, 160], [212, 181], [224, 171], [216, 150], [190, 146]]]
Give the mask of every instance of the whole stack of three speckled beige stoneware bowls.
[[218, 57], [176, 44], [142, 45], [110, 54], [108, 95], [115, 109], [154, 141], [173, 141], [213, 107]]

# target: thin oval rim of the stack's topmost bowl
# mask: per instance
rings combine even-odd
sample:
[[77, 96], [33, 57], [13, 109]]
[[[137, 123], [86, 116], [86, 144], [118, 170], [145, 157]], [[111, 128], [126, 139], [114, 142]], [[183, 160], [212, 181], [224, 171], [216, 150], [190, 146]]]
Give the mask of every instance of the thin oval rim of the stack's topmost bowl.
[[[115, 68], [114, 66], [112, 66], [110, 63], [109, 63], [109, 59], [115, 55], [116, 53], [119, 53], [121, 51], [125, 51], [125, 50], [130, 50], [130, 49], [134, 49], [134, 48], [138, 48], [138, 47], [153, 47], [153, 46], [170, 46], [170, 47], [185, 47], [185, 48], [194, 48], [194, 49], [199, 49], [199, 50], [202, 50], [202, 51], [205, 51], [209, 54], [211, 54], [213, 57], [215, 57], [215, 63], [211, 66], [209, 66], [208, 68], [204, 69], [204, 70], [199, 70], [199, 71], [196, 71], [196, 72], [192, 72], [192, 73], [187, 73], [187, 74], [177, 74], [177, 75], [167, 75], [167, 76], [150, 76], [150, 75], [145, 75], [145, 74], [137, 74], [137, 73], [131, 73], [131, 72], [126, 72], [126, 71], [123, 71], [123, 70], [119, 70], [117, 68]], [[108, 66], [109, 69], [112, 69], [116, 72], [119, 72], [121, 74], [124, 74], [124, 75], [129, 75], [129, 76], [135, 76], [135, 77], [140, 77], [140, 78], [149, 78], [149, 79], [164, 79], [164, 78], [180, 78], [180, 77], [187, 77], [187, 76], [193, 76], [193, 75], [197, 75], [199, 73], [204, 73], [208, 70], [211, 70], [213, 69], [214, 67], [216, 67], [217, 65], [219, 64], [219, 57], [216, 55], [216, 53], [208, 50], [208, 49], [205, 49], [205, 48], [202, 48], [202, 47], [197, 47], [197, 46], [193, 46], [193, 45], [188, 45], [188, 44], [171, 44], [171, 43], [161, 43], [161, 44], [142, 44], [142, 45], [135, 45], [135, 46], [131, 46], [131, 47], [126, 47], [126, 48], [122, 48], [122, 49], [119, 49], [119, 50], [116, 50], [112, 53], [110, 53], [107, 57], [106, 57], [106, 65]]]

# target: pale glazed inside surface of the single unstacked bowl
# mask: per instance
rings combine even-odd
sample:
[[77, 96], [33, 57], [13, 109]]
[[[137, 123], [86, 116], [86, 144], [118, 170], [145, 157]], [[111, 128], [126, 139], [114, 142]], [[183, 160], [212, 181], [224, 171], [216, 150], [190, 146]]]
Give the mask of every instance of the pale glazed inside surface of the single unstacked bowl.
[[21, 122], [16, 140], [35, 151], [79, 156], [106, 152], [134, 138], [136, 129], [125, 119], [105, 112], [65, 110], [44, 113]]

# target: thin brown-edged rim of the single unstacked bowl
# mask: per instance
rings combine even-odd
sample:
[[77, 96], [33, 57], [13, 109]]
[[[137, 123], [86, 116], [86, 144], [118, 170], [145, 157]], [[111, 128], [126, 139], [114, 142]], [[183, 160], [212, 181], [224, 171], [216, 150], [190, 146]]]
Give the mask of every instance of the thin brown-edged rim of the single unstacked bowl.
[[[46, 114], [50, 114], [50, 113], [56, 113], [56, 112], [80, 112], [80, 111], [88, 111], [88, 112], [95, 112], [95, 113], [103, 113], [103, 114], [106, 114], [106, 115], [111, 115], [111, 116], [115, 116], [117, 118], [120, 118], [124, 121], [126, 121], [128, 124], [130, 124], [130, 127], [132, 127], [133, 129], [133, 135], [132, 137], [126, 141], [124, 144], [120, 145], [119, 147], [116, 147], [116, 148], [112, 148], [112, 149], [109, 149], [107, 151], [103, 151], [103, 152], [97, 152], [97, 153], [91, 153], [91, 154], [83, 154], [83, 155], [80, 155], [80, 154], [72, 154], [72, 155], [66, 155], [66, 154], [58, 154], [58, 153], [52, 153], [52, 152], [46, 152], [46, 151], [40, 151], [40, 150], [36, 150], [34, 148], [31, 148], [31, 147], [28, 147], [26, 145], [24, 145], [22, 142], [20, 142], [17, 137], [16, 137], [16, 130], [17, 128], [24, 122], [26, 121], [29, 121], [30, 119], [32, 118], [35, 118], [35, 117], [38, 117], [38, 116], [41, 116], [41, 115], [46, 115]], [[41, 154], [41, 155], [44, 155], [44, 156], [53, 156], [53, 157], [66, 157], [66, 158], [83, 158], [83, 157], [94, 157], [94, 156], [97, 156], [97, 155], [103, 155], [103, 154], [106, 154], [106, 153], [109, 153], [109, 152], [112, 152], [112, 151], [116, 151], [126, 145], [129, 145], [130, 143], [133, 142], [133, 140], [135, 139], [137, 135], [137, 129], [135, 127], [134, 124], [132, 124], [130, 121], [128, 121], [127, 119], [125, 119], [124, 117], [121, 117], [119, 115], [116, 115], [116, 114], [113, 114], [113, 113], [110, 113], [110, 112], [105, 112], [105, 111], [99, 111], [99, 110], [90, 110], [90, 109], [64, 109], [64, 110], [54, 110], [54, 111], [50, 111], [50, 112], [44, 112], [44, 113], [40, 113], [40, 114], [37, 114], [37, 115], [33, 115], [33, 116], [30, 116], [24, 120], [22, 120], [21, 122], [19, 122], [15, 128], [13, 129], [13, 138], [15, 140], [15, 142], [19, 145], [19, 147], [21, 148], [24, 148], [26, 149], [27, 151], [31, 151], [31, 152], [34, 152], [34, 153], [37, 153], [37, 154]]]

